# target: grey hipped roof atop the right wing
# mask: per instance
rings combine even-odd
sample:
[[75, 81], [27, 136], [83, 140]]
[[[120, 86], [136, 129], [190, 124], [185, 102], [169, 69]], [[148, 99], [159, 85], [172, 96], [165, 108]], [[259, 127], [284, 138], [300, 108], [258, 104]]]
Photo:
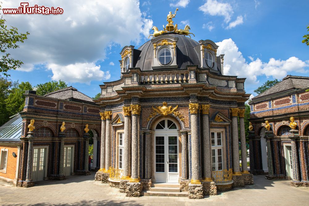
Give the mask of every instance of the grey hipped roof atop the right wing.
[[267, 95], [275, 94], [278, 92], [283, 92], [283, 91], [288, 91], [288, 90], [293, 90], [293, 89], [306, 89], [308, 87], [309, 87], [309, 77], [287, 75], [285, 78], [281, 80], [281, 82], [275, 84], [274, 86], [270, 87], [265, 92], [252, 98], [252, 100], [260, 98], [260, 97], [264, 97]]

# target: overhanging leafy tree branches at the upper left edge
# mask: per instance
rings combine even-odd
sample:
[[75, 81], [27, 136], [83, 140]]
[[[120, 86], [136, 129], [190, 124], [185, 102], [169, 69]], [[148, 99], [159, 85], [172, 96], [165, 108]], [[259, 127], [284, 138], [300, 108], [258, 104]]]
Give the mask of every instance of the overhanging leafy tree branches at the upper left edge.
[[[1, 9], [1, 5], [0, 5]], [[19, 68], [23, 62], [20, 60], [15, 60], [10, 57], [10, 53], [7, 53], [7, 49], [15, 49], [19, 48], [19, 45], [17, 45], [18, 42], [23, 43], [24, 40], [27, 39], [27, 36], [29, 35], [29, 32], [18, 33], [16, 27], [7, 28], [7, 25], [5, 25], [6, 20], [3, 19], [1, 16], [0, 18], [0, 52], [2, 54], [2, 57], [0, 59], [0, 75], [3, 74], [4, 76], [10, 76], [6, 72], [10, 69], [16, 69]]]

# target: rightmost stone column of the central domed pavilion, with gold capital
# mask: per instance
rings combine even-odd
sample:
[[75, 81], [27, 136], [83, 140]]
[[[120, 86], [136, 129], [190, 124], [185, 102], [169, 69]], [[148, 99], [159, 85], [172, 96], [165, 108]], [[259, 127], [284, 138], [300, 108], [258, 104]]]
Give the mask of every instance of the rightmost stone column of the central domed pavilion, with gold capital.
[[245, 109], [239, 109], [240, 147], [241, 147], [241, 172], [249, 174], [247, 167], [247, 147], [245, 135]]

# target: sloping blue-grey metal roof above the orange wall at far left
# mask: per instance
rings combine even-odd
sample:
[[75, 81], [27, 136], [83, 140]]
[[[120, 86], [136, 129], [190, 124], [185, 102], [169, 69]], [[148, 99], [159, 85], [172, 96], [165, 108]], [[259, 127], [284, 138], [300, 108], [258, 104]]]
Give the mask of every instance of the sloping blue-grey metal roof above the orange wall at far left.
[[11, 120], [0, 127], [0, 141], [20, 141], [22, 121], [20, 114], [13, 116]]

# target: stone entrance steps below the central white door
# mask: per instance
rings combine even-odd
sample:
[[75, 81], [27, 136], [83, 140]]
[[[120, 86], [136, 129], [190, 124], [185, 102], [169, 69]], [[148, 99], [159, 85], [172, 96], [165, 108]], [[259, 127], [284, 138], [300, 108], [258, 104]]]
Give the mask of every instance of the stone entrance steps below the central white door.
[[155, 183], [150, 190], [142, 191], [144, 196], [188, 197], [189, 192], [181, 192], [178, 183]]

